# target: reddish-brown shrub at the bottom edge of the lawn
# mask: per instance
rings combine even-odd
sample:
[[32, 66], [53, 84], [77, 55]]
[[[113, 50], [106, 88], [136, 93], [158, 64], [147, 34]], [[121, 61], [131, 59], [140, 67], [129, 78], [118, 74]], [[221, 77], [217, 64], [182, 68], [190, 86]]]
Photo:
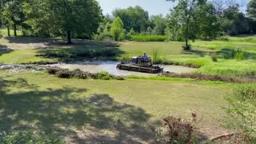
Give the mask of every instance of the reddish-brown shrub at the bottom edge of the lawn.
[[197, 121], [197, 115], [192, 114], [192, 120], [182, 120], [182, 118], [175, 118], [169, 116], [163, 119], [164, 129], [157, 130], [157, 137], [159, 140], [166, 143], [197, 143], [198, 139], [194, 134], [194, 124]]

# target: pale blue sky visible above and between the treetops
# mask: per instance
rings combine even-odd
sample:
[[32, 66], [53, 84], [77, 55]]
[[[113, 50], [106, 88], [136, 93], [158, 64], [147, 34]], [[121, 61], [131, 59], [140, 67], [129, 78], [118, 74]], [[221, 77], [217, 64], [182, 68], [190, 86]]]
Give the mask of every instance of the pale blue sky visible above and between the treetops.
[[[141, 6], [147, 10], [150, 15], [169, 14], [170, 8], [174, 6], [174, 2], [166, 2], [166, 0], [97, 0], [102, 7], [103, 14], [112, 14], [116, 8], [127, 8], [129, 6]], [[250, 0], [237, 0], [245, 5], [242, 11], [246, 10], [246, 3]]]

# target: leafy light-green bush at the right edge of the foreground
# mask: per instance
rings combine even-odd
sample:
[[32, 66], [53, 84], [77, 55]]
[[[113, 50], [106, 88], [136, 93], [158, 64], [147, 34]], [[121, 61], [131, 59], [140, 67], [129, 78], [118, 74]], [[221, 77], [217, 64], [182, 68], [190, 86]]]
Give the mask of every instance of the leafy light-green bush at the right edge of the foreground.
[[238, 131], [251, 143], [256, 142], [256, 86], [244, 85], [226, 97], [226, 124]]

